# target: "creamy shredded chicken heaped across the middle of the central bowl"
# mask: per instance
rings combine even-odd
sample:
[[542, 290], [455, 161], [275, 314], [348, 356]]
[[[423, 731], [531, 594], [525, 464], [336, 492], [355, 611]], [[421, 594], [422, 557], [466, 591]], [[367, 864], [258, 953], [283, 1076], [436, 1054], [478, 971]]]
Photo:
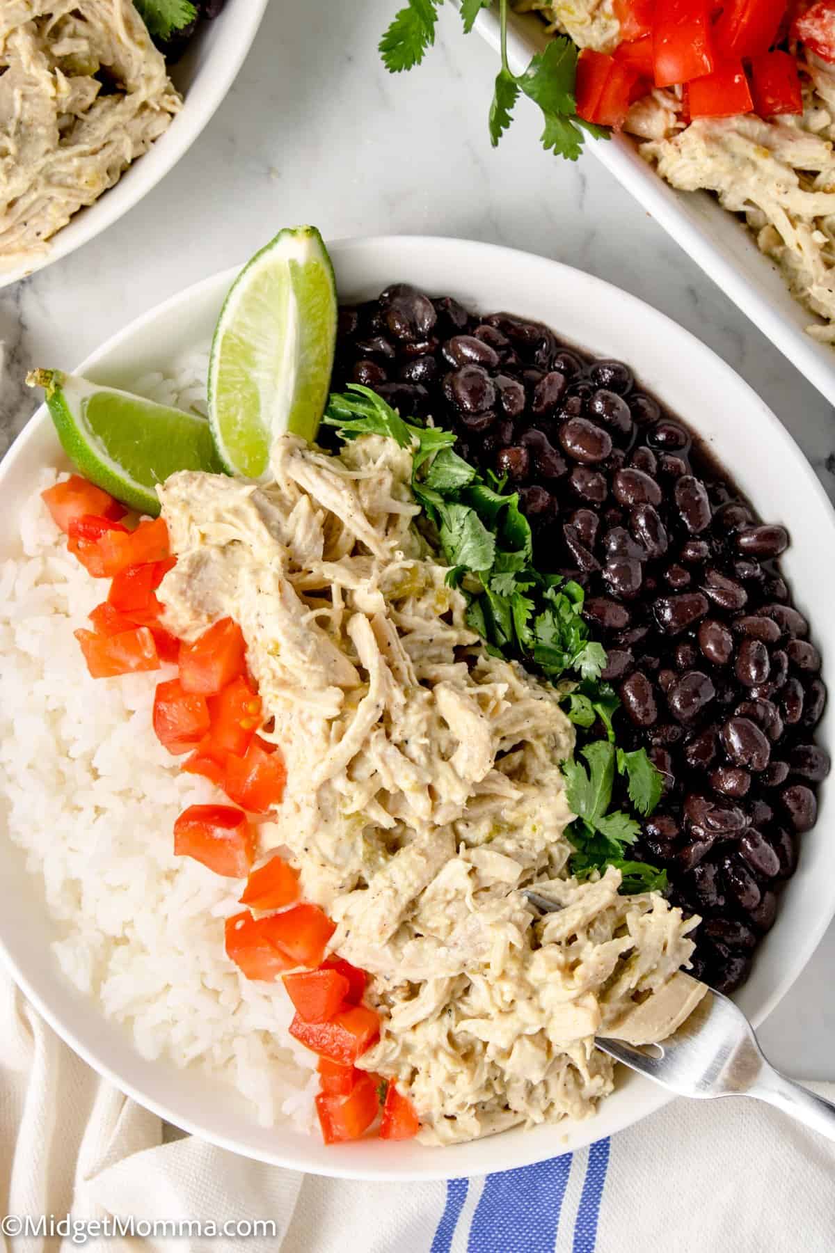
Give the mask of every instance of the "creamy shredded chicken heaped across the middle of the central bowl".
[[[275, 482], [159, 489], [177, 566], [165, 623], [230, 615], [287, 763], [262, 853], [289, 850], [383, 1025], [361, 1065], [398, 1081], [428, 1143], [582, 1118], [612, 1088], [596, 1031], [661, 1039], [702, 985], [682, 920], [620, 872], [570, 877], [556, 690], [491, 657], [414, 525], [412, 456], [284, 436]], [[520, 893], [558, 905], [540, 918]]]

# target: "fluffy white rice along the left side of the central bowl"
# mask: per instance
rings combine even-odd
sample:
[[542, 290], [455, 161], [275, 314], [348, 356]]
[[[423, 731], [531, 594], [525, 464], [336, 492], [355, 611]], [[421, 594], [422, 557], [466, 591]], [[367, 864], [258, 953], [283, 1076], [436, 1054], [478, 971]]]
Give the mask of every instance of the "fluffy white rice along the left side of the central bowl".
[[[204, 377], [205, 357], [192, 358], [135, 390], [198, 407]], [[43, 471], [21, 556], [0, 565], [0, 801], [59, 923], [55, 959], [145, 1058], [234, 1084], [264, 1125], [283, 1114], [309, 1128], [317, 1059], [287, 1032], [289, 999], [224, 952], [243, 882], [173, 853], [178, 813], [224, 799], [153, 732], [154, 688], [174, 669], [91, 679], [73, 635], [108, 585], [66, 551], [40, 500], [56, 477]]]

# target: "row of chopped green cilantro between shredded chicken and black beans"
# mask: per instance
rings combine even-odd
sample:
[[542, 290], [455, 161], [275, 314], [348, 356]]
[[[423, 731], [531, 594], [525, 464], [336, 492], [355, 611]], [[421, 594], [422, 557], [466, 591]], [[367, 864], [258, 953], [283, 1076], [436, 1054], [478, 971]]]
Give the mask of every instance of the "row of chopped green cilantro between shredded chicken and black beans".
[[531, 526], [520, 510], [518, 495], [506, 491], [503, 480], [494, 476], [488, 482], [458, 456], [451, 431], [403, 421], [381, 396], [359, 383], [330, 396], [324, 422], [336, 427], [342, 440], [386, 435], [412, 449], [412, 491], [434, 528], [449, 566], [447, 581], [462, 586], [469, 600], [472, 629], [491, 652], [532, 664], [561, 683], [562, 703], [581, 738], [596, 725], [603, 727], [607, 738], [580, 749], [588, 771], [576, 759], [562, 766], [568, 804], [577, 814], [568, 829], [576, 850], [572, 872], [582, 878], [593, 870], [617, 866], [625, 892], [663, 887], [663, 871], [623, 856], [640, 823], [622, 809], [610, 812], [616, 778], [622, 777], [623, 799], [628, 798], [637, 813], [650, 814], [661, 797], [661, 774], [643, 748], [625, 752], [616, 747], [612, 718], [620, 700], [600, 678], [606, 652], [588, 637], [583, 590], [571, 579], [536, 569]]

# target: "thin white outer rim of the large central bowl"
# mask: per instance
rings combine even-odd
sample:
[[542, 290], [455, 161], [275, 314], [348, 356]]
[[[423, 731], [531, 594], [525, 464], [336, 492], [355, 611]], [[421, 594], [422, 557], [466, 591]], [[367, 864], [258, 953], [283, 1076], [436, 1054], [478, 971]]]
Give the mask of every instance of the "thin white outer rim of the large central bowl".
[[[826, 512], [829, 526], [832, 533], [832, 540], [835, 540], [835, 512], [832, 512], [829, 497], [826, 496], [822, 485], [820, 484], [817, 476], [812, 471], [811, 466], [806, 461], [804, 454], [796, 445], [792, 436], [781, 425], [779, 419], [767, 408], [765, 402], [754, 392], [754, 390], [735, 373], [731, 367], [724, 362], [716, 353], [697, 340], [691, 332], [680, 327], [672, 318], [660, 311], [652, 308], [645, 301], [635, 297], [621, 288], [615, 287], [606, 279], [597, 278], [593, 274], [587, 274], [578, 271], [576, 267], [566, 266], [562, 262], [552, 261], [550, 258], [538, 257], [532, 253], [523, 252], [521, 249], [508, 248], [501, 244], [483, 243], [478, 241], [457, 239], [444, 236], [376, 236], [376, 237], [346, 237], [338, 238], [336, 241], [328, 242], [328, 248], [334, 258], [334, 264], [337, 271], [339, 269], [339, 262], [343, 258], [348, 258], [352, 253], [368, 252], [368, 251], [384, 251], [384, 249], [453, 249], [461, 253], [472, 253], [473, 257], [478, 258], [481, 266], [489, 266], [491, 261], [496, 262], [499, 257], [507, 261], [517, 259], [520, 263], [536, 263], [542, 266], [543, 269], [550, 269], [558, 281], [560, 276], [572, 274], [580, 276], [583, 283], [588, 283], [593, 289], [600, 293], [601, 298], [608, 296], [610, 298], [616, 297], [618, 301], [625, 301], [630, 306], [635, 315], [648, 316], [651, 321], [656, 321], [656, 325], [665, 325], [669, 331], [679, 340], [685, 347], [690, 347], [691, 351], [701, 355], [706, 355], [711, 361], [711, 368], [714, 368], [721, 380], [732, 382], [734, 387], [741, 390], [742, 393], [747, 393], [747, 400], [751, 406], [757, 411], [757, 419], [767, 427], [769, 439], [775, 441], [780, 446], [782, 455], [794, 464], [795, 472], [801, 476], [804, 482], [804, 490], [809, 492], [812, 500], [816, 500], [819, 505], [824, 506]], [[110, 355], [118, 350], [123, 343], [129, 342], [130, 338], [141, 331], [144, 327], [149, 326], [166, 312], [177, 308], [180, 303], [189, 306], [190, 308], [198, 308], [200, 298], [207, 293], [213, 292], [215, 288], [228, 287], [233, 278], [239, 272], [240, 267], [234, 266], [228, 269], [220, 271], [215, 274], [208, 276], [207, 278], [192, 284], [184, 291], [168, 297], [164, 302], [155, 306], [154, 308], [140, 315], [126, 327], [113, 335], [104, 345], [90, 353], [76, 368], [78, 372], [85, 372], [94, 370], [103, 360], [106, 361]], [[454, 287], [454, 281], [449, 283]], [[558, 335], [561, 335], [560, 328], [555, 328]], [[40, 430], [49, 425], [49, 413], [45, 405], [33, 415], [29, 424], [19, 434], [8, 454], [0, 462], [0, 499], [3, 499], [1, 489], [4, 481], [11, 477], [14, 464], [18, 456], [21, 455], [28, 445], [39, 437]], [[817, 623], [817, 634], [822, 634], [822, 623]], [[820, 944], [824, 932], [826, 931], [832, 916], [835, 916], [835, 876], [829, 887], [829, 895], [826, 897], [826, 907], [821, 908], [819, 916], [812, 920], [809, 928], [802, 936], [802, 944], [795, 947], [790, 954], [790, 962], [786, 962], [786, 970], [779, 980], [775, 981], [775, 986], [771, 989], [770, 994], [762, 999], [762, 1001], [756, 1006], [756, 1009], [750, 1012], [751, 1022], [754, 1026], [759, 1026], [769, 1014], [772, 1012], [779, 1001], [785, 996], [791, 985], [801, 974], [802, 969], [807, 964], [812, 952]], [[260, 1150], [254, 1150], [252, 1146], [243, 1144], [240, 1140], [234, 1139], [228, 1135], [219, 1134], [214, 1130], [208, 1130], [205, 1126], [193, 1118], [183, 1118], [173, 1108], [165, 1105], [163, 1101], [150, 1099], [145, 1095], [136, 1085], [126, 1081], [121, 1078], [118, 1071], [111, 1066], [103, 1063], [95, 1054], [95, 1050], [89, 1045], [81, 1042], [78, 1036], [68, 1029], [68, 1026], [61, 1022], [60, 1017], [53, 1012], [50, 1005], [45, 997], [38, 991], [33, 985], [30, 979], [20, 970], [20, 967], [14, 961], [6, 941], [0, 930], [0, 959], [4, 961], [13, 979], [18, 982], [24, 994], [29, 997], [35, 1009], [41, 1014], [41, 1016], [50, 1024], [50, 1026], [56, 1031], [56, 1034], [79, 1055], [81, 1056], [94, 1070], [101, 1074], [105, 1079], [114, 1084], [119, 1090], [126, 1093], [134, 1100], [146, 1109], [153, 1110], [160, 1118], [166, 1121], [173, 1123], [177, 1126], [183, 1128], [190, 1134], [198, 1135], [210, 1143], [218, 1144], [220, 1148], [229, 1149], [233, 1153], [238, 1153], [244, 1157], [254, 1158], [257, 1160], [263, 1160], [274, 1165], [284, 1167], [288, 1169], [304, 1169], [307, 1173], [322, 1174], [330, 1178], [347, 1178], [347, 1179], [368, 1179], [368, 1180], [392, 1180], [392, 1182], [408, 1182], [408, 1180], [437, 1180], [448, 1179], [452, 1177], [461, 1177], [467, 1174], [481, 1174], [483, 1168], [473, 1168], [467, 1170], [462, 1169], [459, 1164], [456, 1164], [454, 1170], [444, 1168], [444, 1154], [446, 1159], [456, 1152], [457, 1148], [444, 1149], [444, 1150], [426, 1150], [432, 1153], [433, 1164], [427, 1164], [426, 1168], [409, 1169], [408, 1173], [394, 1172], [391, 1169], [366, 1168], [366, 1167], [353, 1167], [349, 1164], [343, 1164], [342, 1154], [334, 1154], [333, 1163], [327, 1162], [323, 1167], [320, 1163], [299, 1163], [298, 1157], [289, 1157], [283, 1153], [262, 1153]], [[129, 1048], [133, 1045], [129, 1044]], [[637, 1076], [636, 1076], [637, 1078]], [[661, 1109], [670, 1100], [672, 1100], [672, 1094], [666, 1093], [663, 1089], [648, 1080], [637, 1080], [641, 1086], [641, 1110], [635, 1114], [627, 1114], [626, 1116], [620, 1116], [617, 1119], [607, 1118], [606, 1125], [602, 1125], [601, 1116], [597, 1115], [595, 1119], [590, 1119], [586, 1123], [572, 1124], [572, 1126], [590, 1128], [591, 1134], [583, 1135], [581, 1143], [573, 1144], [572, 1148], [581, 1148], [586, 1144], [591, 1144], [595, 1140], [615, 1134], [626, 1126], [633, 1125], [636, 1121], [648, 1116], [656, 1110]], [[606, 1105], [603, 1105], [606, 1108]], [[566, 1152], [565, 1146], [560, 1148], [560, 1130], [562, 1124], [556, 1124], [551, 1126], [553, 1133], [552, 1150], [546, 1152], [543, 1155], [542, 1150], [533, 1150], [531, 1145], [531, 1152], [521, 1152], [512, 1155], [502, 1155], [501, 1145], [506, 1141], [506, 1135], [493, 1136], [489, 1141], [473, 1141], [477, 1144], [489, 1143], [497, 1146], [496, 1162], [489, 1167], [489, 1170], [506, 1170], [515, 1169], [518, 1167], [525, 1167], [541, 1162], [545, 1157], [553, 1155], [553, 1153]], [[595, 1131], [597, 1128], [597, 1131]], [[527, 1133], [526, 1133], [527, 1136]], [[528, 1139], [535, 1139], [533, 1136], [527, 1136]], [[344, 1146], [347, 1148], [347, 1146]], [[437, 1164], [434, 1164], [437, 1160]]]

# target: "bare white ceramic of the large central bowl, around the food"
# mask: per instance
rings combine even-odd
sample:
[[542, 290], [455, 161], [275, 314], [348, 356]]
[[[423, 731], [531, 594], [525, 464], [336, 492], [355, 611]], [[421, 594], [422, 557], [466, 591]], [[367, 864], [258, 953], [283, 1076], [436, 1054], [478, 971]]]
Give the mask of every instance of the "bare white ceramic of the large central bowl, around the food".
[[[557, 335], [630, 362], [640, 380], [691, 424], [729, 466], [766, 519], [785, 523], [792, 545], [784, 566], [799, 608], [809, 614], [824, 657], [835, 657], [835, 580], [821, 576], [835, 545], [835, 519], [802, 454], [761, 400], [686, 331], [598, 278], [508, 248], [442, 238], [349, 239], [332, 246], [346, 299], [376, 296], [393, 281], [453, 294], [483, 312], [511, 309], [540, 318]], [[121, 331], [79, 367], [101, 382], [130, 387], [184, 350], [209, 342], [228, 271], [189, 288]], [[39, 466], [63, 462], [40, 408], [0, 465], [0, 559], [15, 551], [15, 519]], [[832, 747], [832, 713], [820, 727]], [[762, 1021], [797, 977], [835, 912], [835, 843], [827, 834], [829, 789], [821, 789], [817, 826], [804, 837], [797, 873], [781, 902], [739, 1001]], [[0, 819], [1, 826], [1, 819]], [[0, 840], [3, 840], [0, 831]], [[542, 1160], [617, 1131], [665, 1103], [663, 1091], [621, 1074], [617, 1091], [583, 1123], [541, 1126], [448, 1149], [381, 1140], [324, 1148], [288, 1126], [257, 1126], [233, 1091], [193, 1070], [145, 1061], [128, 1035], [64, 980], [50, 954], [55, 927], [40, 882], [24, 870], [8, 840], [1, 853], [0, 950], [30, 1000], [76, 1053], [143, 1105], [179, 1126], [248, 1157], [319, 1174], [378, 1179], [431, 1179], [503, 1170]], [[220, 941], [219, 941], [220, 942]], [[277, 995], [282, 995], [277, 991]]]

